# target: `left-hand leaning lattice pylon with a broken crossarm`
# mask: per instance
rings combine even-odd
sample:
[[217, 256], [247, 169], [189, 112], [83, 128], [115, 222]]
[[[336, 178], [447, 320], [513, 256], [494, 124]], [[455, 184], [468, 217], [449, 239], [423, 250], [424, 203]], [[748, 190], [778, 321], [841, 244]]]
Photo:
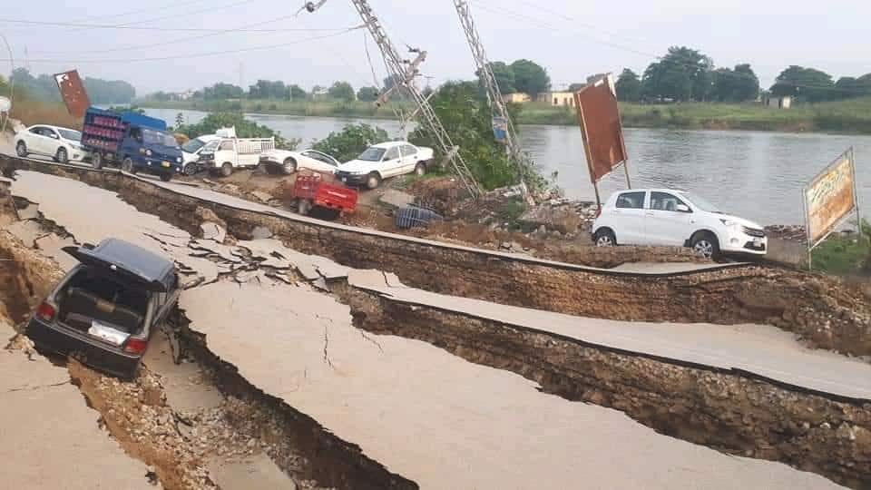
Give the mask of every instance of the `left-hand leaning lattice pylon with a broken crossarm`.
[[[324, 5], [325, 2], [326, 0], [319, 0], [317, 3], [308, 2], [305, 8], [308, 12], [314, 12]], [[417, 105], [416, 113], [420, 114], [421, 122], [433, 134], [441, 150], [445, 152], [445, 158], [451, 162], [457, 177], [460, 178], [460, 181], [463, 182], [463, 185], [473, 197], [479, 197], [481, 195], [481, 186], [475, 181], [475, 177], [469, 171], [463, 157], [457, 151], [458, 148], [445, 131], [442, 122], [438, 120], [426, 96], [417, 89], [415, 78], [420, 73], [418, 67], [426, 60], [426, 51], [409, 48], [411, 53], [416, 54], [416, 58], [410, 61], [403, 59], [396, 51], [396, 47], [394, 47], [390, 38], [387, 37], [384, 27], [378, 22], [377, 17], [373, 15], [372, 7], [369, 6], [368, 2], [366, 0], [351, 0], [351, 3], [354, 4], [357, 14], [363, 19], [369, 34], [372, 34], [378, 49], [381, 50], [381, 56], [384, 58], [395, 87], [403, 89], [415, 101]], [[389, 93], [382, 94], [379, 102], [384, 102], [388, 96]]]

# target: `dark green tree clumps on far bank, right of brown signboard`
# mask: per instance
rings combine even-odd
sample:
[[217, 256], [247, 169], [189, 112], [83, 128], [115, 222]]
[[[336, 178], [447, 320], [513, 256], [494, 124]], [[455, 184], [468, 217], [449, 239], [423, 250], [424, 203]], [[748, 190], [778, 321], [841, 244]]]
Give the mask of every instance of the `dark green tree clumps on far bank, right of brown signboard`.
[[[617, 98], [624, 102], [742, 103], [764, 94], [750, 64], [715, 68], [710, 56], [686, 46], [670, 47], [641, 76], [623, 70], [616, 84]], [[871, 73], [835, 81], [821, 70], [792, 65], [778, 75], [768, 93], [809, 103], [861, 97], [871, 95]]]

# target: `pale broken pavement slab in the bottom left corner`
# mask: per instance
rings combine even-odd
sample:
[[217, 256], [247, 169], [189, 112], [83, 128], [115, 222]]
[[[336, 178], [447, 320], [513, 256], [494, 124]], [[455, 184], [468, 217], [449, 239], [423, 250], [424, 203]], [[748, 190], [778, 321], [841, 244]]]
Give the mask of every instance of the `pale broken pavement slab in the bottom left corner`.
[[[100, 429], [65, 368], [0, 349], [0, 459], [5, 488], [153, 490], [147, 466]], [[160, 486], [157, 486], [159, 488]]]

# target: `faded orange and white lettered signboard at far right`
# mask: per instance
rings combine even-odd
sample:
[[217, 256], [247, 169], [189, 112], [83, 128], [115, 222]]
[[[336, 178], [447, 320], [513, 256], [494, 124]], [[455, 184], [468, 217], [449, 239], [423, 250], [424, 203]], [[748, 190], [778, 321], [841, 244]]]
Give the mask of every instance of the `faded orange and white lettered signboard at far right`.
[[856, 209], [856, 163], [851, 148], [805, 188], [808, 247], [824, 240]]

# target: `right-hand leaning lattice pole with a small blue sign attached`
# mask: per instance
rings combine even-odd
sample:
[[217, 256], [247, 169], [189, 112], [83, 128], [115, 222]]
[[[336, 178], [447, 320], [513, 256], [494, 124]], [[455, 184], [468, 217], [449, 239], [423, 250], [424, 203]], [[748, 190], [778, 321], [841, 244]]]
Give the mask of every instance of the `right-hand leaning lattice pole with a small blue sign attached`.
[[502, 118], [506, 124], [505, 146], [508, 150], [508, 157], [514, 162], [517, 168], [517, 173], [520, 176], [520, 188], [524, 194], [524, 199], [530, 205], [535, 204], [529, 187], [526, 181], [533, 176], [533, 162], [529, 157], [521, 151], [520, 143], [517, 141], [517, 132], [514, 130], [514, 123], [511, 122], [511, 116], [508, 114], [508, 107], [502, 98], [502, 91], [499, 90], [499, 84], [496, 83], [496, 77], [493, 70], [490, 69], [490, 62], [487, 60], [487, 54], [484, 52], [484, 43], [481, 42], [481, 37], [475, 29], [475, 22], [472, 20], [472, 14], [469, 12], [469, 5], [465, 0], [454, 0], [456, 7], [456, 15], [460, 17], [460, 24], [463, 25], [465, 38], [469, 42], [469, 47], [472, 48], [472, 56], [475, 58], [475, 65], [478, 68], [478, 76], [481, 77], [484, 88], [487, 90], [487, 102], [490, 103], [490, 109], [494, 117]]

